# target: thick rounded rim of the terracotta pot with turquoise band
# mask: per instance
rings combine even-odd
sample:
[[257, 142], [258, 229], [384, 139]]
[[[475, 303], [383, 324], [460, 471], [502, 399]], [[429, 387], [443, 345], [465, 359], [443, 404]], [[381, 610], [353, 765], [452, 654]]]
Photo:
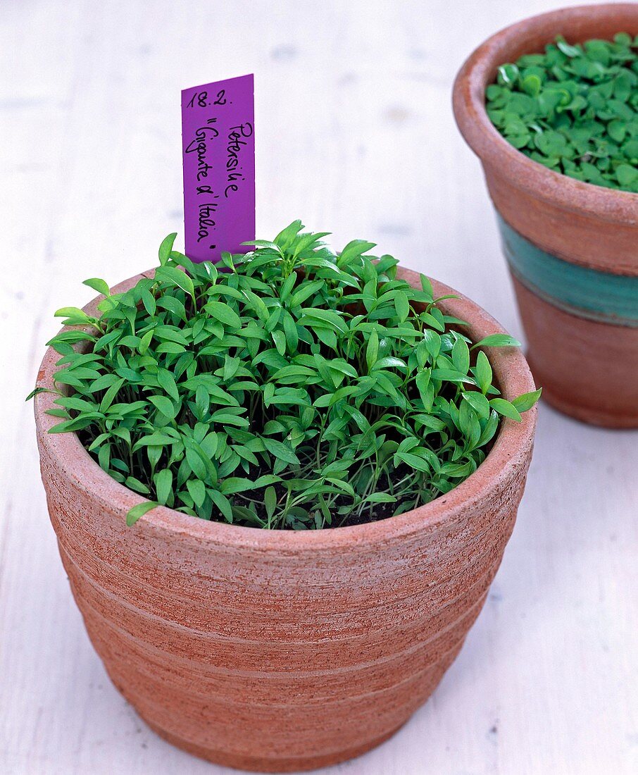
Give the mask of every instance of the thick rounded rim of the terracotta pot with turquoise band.
[[[489, 37], [465, 60], [454, 80], [454, 119], [461, 135], [482, 162], [496, 168], [509, 181], [515, 180], [517, 188], [564, 210], [587, 212], [612, 222], [638, 223], [638, 194], [578, 181], [544, 167], [510, 145], [485, 110], [485, 88], [492, 82], [496, 68], [509, 61], [503, 52], [520, 41], [533, 38], [547, 26], [554, 30], [547, 37], [547, 43], [550, 43], [559, 34], [569, 38], [570, 30], [581, 23], [595, 27], [610, 14], [622, 19], [617, 32], [638, 34], [638, 4], [603, 3], [530, 16]], [[624, 29], [629, 26], [633, 30]]]

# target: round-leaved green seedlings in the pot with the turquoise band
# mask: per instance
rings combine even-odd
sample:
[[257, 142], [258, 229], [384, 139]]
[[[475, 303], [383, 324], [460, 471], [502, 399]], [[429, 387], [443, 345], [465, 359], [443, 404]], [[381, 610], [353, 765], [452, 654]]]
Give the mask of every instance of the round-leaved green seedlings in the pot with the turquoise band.
[[575, 46], [558, 37], [499, 67], [485, 96], [492, 123], [531, 159], [638, 193], [638, 37]]

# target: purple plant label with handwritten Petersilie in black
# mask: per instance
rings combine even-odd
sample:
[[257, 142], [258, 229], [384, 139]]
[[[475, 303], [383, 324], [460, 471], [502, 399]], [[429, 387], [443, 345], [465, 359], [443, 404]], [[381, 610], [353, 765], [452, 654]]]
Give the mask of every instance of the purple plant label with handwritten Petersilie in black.
[[255, 97], [242, 75], [182, 91], [184, 240], [193, 261], [255, 239]]

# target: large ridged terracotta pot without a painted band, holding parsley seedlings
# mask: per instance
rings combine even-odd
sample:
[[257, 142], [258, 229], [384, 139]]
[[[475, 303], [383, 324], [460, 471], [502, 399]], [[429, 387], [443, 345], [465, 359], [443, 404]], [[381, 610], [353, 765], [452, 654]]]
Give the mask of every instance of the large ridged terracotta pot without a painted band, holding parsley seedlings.
[[[419, 285], [417, 274], [402, 276]], [[503, 332], [467, 298], [441, 306], [475, 340]], [[506, 398], [533, 390], [519, 350], [488, 353]], [[47, 351], [40, 386], [51, 386], [58, 358]], [[113, 683], [180, 748], [266, 772], [357, 756], [432, 694], [499, 567], [536, 425], [535, 408], [520, 424], [505, 420], [468, 480], [382, 522], [268, 532], [156, 508], [127, 528], [142, 498], [75, 434], [47, 433], [53, 398], [39, 394], [35, 405], [46, 498]]]

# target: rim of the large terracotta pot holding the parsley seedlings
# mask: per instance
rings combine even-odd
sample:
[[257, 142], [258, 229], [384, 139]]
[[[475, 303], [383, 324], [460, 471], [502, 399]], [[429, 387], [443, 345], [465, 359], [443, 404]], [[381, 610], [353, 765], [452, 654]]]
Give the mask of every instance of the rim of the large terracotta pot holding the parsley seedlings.
[[[400, 277], [410, 284], [419, 283], [419, 275], [412, 270], [400, 267]], [[130, 288], [148, 272], [129, 278], [112, 289], [114, 293]], [[454, 289], [438, 281], [433, 281], [437, 296], [456, 294], [458, 298], [446, 299], [440, 303], [442, 309], [468, 322], [468, 335], [475, 341], [493, 333], [506, 333], [495, 319], [485, 310]], [[89, 314], [94, 313], [98, 296], [84, 307]], [[496, 381], [501, 386], [504, 398], [512, 399], [516, 395], [535, 389], [530, 368], [520, 348], [483, 348], [489, 356]], [[49, 347], [40, 365], [37, 379], [38, 387], [53, 387], [53, 373], [60, 355]], [[34, 400], [36, 429], [39, 444], [46, 450], [48, 460], [63, 477], [67, 477], [74, 486], [87, 492], [96, 502], [108, 505], [111, 512], [119, 512], [122, 523], [125, 515], [135, 504], [146, 501], [142, 495], [129, 490], [105, 473], [93, 460], [87, 449], [81, 444], [76, 433], [50, 434], [48, 430], [57, 424], [57, 418], [46, 415], [53, 408], [56, 398], [52, 393], [39, 393]], [[265, 530], [242, 525], [229, 525], [225, 522], [208, 522], [166, 506], [157, 506], [144, 515], [131, 528], [149, 531], [155, 537], [166, 540], [180, 538], [194, 539], [211, 546], [228, 546], [234, 549], [251, 549], [275, 553], [316, 553], [341, 547], [369, 546], [372, 543], [386, 543], [399, 539], [424, 528], [431, 528], [440, 522], [453, 522], [468, 506], [489, 501], [499, 482], [515, 475], [515, 469], [521, 467], [530, 455], [533, 435], [536, 428], [537, 407], [523, 414], [520, 423], [502, 418], [496, 441], [485, 460], [474, 474], [451, 490], [430, 503], [421, 505], [410, 512], [362, 525], [322, 530]]]

